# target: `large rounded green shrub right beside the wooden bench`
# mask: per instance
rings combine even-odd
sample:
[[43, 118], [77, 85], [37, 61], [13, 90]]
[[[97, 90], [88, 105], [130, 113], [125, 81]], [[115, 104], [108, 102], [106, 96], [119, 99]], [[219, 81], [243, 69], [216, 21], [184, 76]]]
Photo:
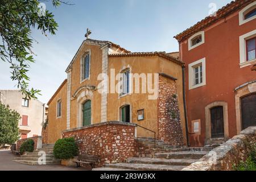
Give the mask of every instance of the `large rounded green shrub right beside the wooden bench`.
[[53, 148], [53, 155], [56, 159], [72, 159], [77, 152], [78, 147], [74, 138], [59, 139]]

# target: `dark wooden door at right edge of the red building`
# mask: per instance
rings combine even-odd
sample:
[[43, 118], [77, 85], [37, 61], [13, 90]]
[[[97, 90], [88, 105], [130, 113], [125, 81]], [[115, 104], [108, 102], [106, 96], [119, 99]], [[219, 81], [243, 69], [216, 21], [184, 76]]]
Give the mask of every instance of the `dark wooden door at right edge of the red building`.
[[242, 130], [256, 126], [256, 93], [241, 98]]

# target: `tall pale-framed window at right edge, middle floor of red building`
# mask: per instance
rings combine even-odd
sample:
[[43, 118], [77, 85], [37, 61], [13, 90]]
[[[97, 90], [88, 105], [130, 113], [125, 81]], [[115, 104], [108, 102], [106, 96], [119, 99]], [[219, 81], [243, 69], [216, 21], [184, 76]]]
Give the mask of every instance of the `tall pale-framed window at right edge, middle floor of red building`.
[[240, 68], [256, 63], [256, 30], [241, 35], [239, 39]]

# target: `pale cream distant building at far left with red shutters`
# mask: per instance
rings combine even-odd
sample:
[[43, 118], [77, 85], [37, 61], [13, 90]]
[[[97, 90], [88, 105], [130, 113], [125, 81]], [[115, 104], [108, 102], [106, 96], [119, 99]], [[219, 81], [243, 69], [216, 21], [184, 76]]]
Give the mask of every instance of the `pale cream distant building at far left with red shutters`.
[[19, 90], [0, 90], [0, 101], [20, 114], [21, 139], [41, 135], [42, 125], [46, 119], [45, 105], [42, 102], [26, 99]]

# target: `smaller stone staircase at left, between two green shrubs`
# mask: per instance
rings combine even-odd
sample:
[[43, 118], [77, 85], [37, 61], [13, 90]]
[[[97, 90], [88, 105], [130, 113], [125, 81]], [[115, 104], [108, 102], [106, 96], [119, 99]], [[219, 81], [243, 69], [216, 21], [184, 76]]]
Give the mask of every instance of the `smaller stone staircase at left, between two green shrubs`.
[[42, 157], [40, 151], [46, 152], [46, 165], [47, 164], [60, 164], [61, 160], [55, 159], [53, 156], [54, 144], [43, 144], [42, 148], [37, 149], [33, 152], [24, 152], [23, 155], [14, 158], [14, 162], [28, 164], [28, 165], [39, 165], [38, 159]]

